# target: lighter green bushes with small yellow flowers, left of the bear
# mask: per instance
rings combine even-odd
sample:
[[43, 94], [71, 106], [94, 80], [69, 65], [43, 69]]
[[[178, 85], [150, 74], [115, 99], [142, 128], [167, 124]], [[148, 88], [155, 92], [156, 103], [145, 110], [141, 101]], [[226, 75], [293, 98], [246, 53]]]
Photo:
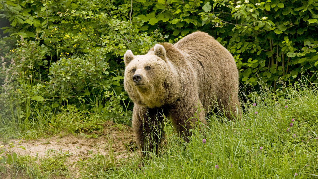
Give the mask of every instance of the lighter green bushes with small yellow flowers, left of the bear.
[[10, 38], [0, 43], [2, 120], [46, 125], [66, 112], [62, 106], [74, 105], [79, 114], [130, 124], [121, 56], [128, 48], [145, 53], [163, 36], [140, 32], [144, 22], [130, 16], [129, 4], [7, 0], [1, 6], [10, 21], [3, 28]]

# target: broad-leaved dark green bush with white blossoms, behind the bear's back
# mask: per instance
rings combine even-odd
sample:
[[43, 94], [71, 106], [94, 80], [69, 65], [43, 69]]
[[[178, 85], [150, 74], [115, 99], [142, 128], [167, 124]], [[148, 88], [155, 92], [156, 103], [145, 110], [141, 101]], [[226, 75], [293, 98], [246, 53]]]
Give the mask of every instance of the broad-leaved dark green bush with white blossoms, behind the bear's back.
[[170, 39], [197, 30], [216, 37], [233, 54], [247, 88], [260, 80], [276, 89], [280, 78], [293, 83], [301, 74], [317, 81], [315, 1], [139, 0], [133, 9], [151, 25], [143, 29], [161, 27]]

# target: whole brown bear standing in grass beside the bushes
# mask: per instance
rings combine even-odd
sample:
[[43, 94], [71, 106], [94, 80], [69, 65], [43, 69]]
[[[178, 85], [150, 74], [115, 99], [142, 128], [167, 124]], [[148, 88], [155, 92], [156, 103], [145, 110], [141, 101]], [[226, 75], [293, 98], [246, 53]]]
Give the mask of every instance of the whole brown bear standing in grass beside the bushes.
[[241, 114], [233, 56], [207, 33], [156, 44], [145, 55], [128, 50], [124, 62], [124, 87], [135, 104], [132, 125], [142, 157], [158, 152], [164, 116], [189, 141], [189, 129], [200, 125], [198, 120], [206, 125], [205, 113], [216, 105], [230, 120]]

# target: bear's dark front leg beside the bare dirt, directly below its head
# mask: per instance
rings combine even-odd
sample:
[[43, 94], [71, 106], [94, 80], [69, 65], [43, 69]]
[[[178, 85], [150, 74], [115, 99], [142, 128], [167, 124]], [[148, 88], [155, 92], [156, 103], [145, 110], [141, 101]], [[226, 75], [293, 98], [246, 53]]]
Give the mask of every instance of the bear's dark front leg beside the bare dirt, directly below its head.
[[133, 130], [136, 145], [141, 148], [141, 157], [144, 158], [148, 151], [158, 154], [160, 142], [163, 139], [163, 114], [162, 108], [148, 108], [135, 104], [133, 109]]

